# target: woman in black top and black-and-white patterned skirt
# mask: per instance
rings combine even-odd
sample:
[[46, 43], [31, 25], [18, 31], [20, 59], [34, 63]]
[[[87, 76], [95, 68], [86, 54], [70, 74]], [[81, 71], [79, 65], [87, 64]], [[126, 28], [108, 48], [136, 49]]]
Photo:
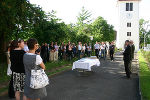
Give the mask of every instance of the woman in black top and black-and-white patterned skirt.
[[[23, 40], [12, 41], [10, 51], [10, 61], [16, 100], [20, 100], [20, 93], [24, 92], [25, 70], [23, 64], [23, 55], [26, 52], [23, 49], [24, 49]], [[23, 100], [26, 100], [26, 96], [24, 95]]]

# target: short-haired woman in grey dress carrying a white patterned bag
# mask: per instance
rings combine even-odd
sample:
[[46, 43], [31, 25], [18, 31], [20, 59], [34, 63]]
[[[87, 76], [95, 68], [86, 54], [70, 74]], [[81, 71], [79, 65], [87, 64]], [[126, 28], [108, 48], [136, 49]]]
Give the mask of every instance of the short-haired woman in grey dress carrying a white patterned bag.
[[36, 55], [35, 51], [38, 49], [38, 41], [31, 38], [27, 41], [29, 52], [23, 57], [23, 63], [25, 66], [25, 87], [24, 94], [27, 100], [40, 100], [41, 98], [47, 96], [46, 88], [32, 89], [30, 88], [31, 70], [36, 67], [37, 69], [44, 69], [45, 65], [42, 61], [40, 55]]

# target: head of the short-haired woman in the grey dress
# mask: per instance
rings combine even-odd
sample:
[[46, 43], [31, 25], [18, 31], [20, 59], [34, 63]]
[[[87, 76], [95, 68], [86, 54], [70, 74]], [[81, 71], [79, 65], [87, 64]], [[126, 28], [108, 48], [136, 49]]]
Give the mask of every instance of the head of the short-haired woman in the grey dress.
[[37, 50], [38, 49], [38, 41], [34, 38], [30, 38], [28, 41], [27, 41], [27, 45], [28, 45], [28, 48], [29, 50]]

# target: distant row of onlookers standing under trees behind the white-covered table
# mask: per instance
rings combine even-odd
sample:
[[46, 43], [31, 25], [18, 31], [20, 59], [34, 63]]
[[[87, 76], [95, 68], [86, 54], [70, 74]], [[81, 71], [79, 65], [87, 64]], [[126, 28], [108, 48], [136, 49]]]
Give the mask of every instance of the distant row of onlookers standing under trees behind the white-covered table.
[[[25, 46], [26, 48], [26, 46]], [[110, 51], [110, 58], [113, 60], [115, 45], [112, 43], [105, 42], [96, 42], [94, 45], [94, 51], [97, 58], [106, 58], [108, 51]], [[43, 62], [49, 61], [58, 61], [58, 60], [72, 60], [72, 58], [77, 57], [78, 59], [82, 57], [90, 57], [92, 55], [92, 45], [91, 43], [82, 44], [79, 42], [75, 43], [61, 43], [60, 45], [57, 42], [51, 42], [51, 44], [43, 43], [38, 50], [36, 50], [37, 54], [40, 54]]]

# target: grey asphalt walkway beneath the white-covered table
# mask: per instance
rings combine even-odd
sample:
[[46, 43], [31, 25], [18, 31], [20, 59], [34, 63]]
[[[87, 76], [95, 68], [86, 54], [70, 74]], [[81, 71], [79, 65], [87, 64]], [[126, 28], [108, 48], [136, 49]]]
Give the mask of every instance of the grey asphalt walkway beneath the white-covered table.
[[101, 66], [89, 76], [77, 76], [73, 71], [59, 74], [50, 79], [48, 96], [42, 100], [140, 100], [137, 60], [133, 64], [131, 79], [124, 77], [120, 53], [116, 53], [114, 62], [102, 59]]

